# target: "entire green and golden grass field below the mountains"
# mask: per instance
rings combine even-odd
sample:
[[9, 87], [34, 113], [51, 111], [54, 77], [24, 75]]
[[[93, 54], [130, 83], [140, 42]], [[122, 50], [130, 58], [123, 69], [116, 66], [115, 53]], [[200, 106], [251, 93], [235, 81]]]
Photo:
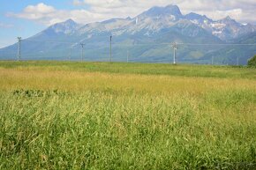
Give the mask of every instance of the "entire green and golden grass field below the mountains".
[[256, 69], [0, 62], [0, 169], [254, 169]]

